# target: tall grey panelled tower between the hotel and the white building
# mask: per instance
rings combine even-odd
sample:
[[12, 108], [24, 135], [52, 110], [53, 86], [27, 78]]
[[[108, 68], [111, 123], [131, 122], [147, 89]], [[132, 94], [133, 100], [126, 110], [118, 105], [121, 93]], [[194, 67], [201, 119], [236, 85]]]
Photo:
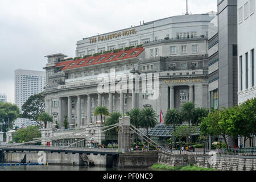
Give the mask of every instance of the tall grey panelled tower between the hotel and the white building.
[[218, 0], [218, 102], [237, 104], [237, 0]]

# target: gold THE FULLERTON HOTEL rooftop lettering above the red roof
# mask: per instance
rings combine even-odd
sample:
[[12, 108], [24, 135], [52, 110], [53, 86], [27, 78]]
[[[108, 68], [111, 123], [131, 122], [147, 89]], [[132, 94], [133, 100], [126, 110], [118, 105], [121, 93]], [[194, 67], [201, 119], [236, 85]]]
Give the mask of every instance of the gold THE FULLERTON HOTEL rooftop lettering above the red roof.
[[128, 35], [133, 35], [133, 34], [137, 34], [135, 28], [130, 29], [130, 30], [123, 30], [122, 32], [116, 32], [116, 33], [109, 34], [109, 35], [98, 36], [98, 38], [90, 38], [89, 40], [90, 40], [90, 44], [92, 44], [92, 43], [96, 43], [96, 42], [102, 42], [105, 40], [116, 39], [121, 36], [128, 36]]

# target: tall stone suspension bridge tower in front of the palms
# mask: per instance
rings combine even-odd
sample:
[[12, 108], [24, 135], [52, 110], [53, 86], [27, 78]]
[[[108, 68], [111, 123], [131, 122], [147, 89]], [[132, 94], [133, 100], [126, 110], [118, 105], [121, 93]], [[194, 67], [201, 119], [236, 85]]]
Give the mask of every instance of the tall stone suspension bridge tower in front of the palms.
[[131, 150], [130, 117], [119, 119], [118, 148], [122, 152]]

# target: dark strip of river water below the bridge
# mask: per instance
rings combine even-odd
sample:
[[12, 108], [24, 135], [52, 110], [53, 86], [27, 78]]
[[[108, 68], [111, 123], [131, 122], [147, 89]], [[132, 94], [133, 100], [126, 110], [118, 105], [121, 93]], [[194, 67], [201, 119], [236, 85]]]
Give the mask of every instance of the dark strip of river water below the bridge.
[[106, 167], [88, 167], [88, 166], [0, 166], [0, 171], [150, 171], [148, 168], [123, 169]]

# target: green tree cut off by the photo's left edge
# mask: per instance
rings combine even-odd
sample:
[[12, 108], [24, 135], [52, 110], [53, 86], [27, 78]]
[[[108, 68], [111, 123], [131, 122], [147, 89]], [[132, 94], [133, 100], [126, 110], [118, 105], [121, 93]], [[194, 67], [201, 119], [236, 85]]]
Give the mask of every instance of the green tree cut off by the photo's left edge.
[[0, 102], [0, 127], [4, 133], [13, 128], [15, 119], [19, 117], [19, 112], [19, 107], [15, 104]]

